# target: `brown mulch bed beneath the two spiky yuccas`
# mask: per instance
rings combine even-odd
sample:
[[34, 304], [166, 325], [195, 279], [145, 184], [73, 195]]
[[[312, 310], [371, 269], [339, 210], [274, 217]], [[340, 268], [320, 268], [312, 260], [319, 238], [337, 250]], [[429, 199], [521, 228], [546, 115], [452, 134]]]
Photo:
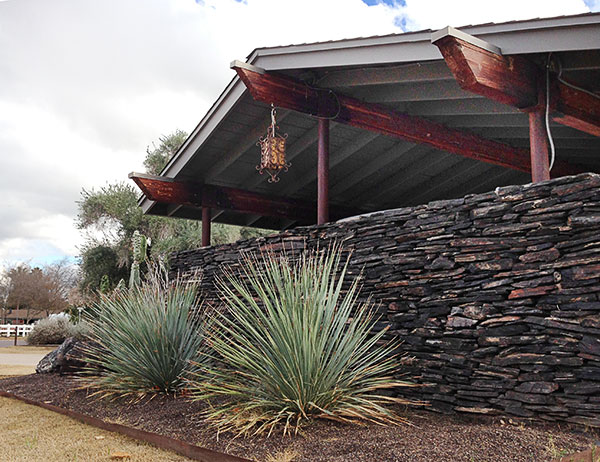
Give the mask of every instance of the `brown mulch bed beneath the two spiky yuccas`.
[[[442, 415], [398, 409], [414, 426], [381, 427], [317, 421], [297, 436], [232, 438], [200, 416], [201, 403], [156, 396], [137, 403], [90, 398], [70, 377], [28, 375], [0, 380], [0, 390], [51, 402], [111, 422], [178, 438], [257, 461], [285, 451], [293, 462], [546, 461], [588, 449], [597, 431], [564, 424], [534, 424], [489, 416]], [[277, 460], [276, 458], [273, 460]]]

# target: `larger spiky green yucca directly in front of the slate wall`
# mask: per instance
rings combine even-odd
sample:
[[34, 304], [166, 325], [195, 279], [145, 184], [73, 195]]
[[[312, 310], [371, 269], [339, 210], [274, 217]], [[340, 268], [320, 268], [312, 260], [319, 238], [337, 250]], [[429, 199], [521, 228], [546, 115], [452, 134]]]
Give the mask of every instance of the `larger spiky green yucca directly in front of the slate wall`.
[[378, 394], [409, 385], [393, 378], [397, 345], [371, 331], [358, 279], [342, 294], [348, 261], [340, 268], [340, 259], [337, 247], [296, 262], [247, 257], [241, 278], [219, 282], [228, 309], [214, 314], [207, 339], [221, 366], [204, 368], [193, 394], [217, 398], [207, 417], [220, 429], [285, 434], [311, 417], [402, 421], [384, 406], [402, 400]]

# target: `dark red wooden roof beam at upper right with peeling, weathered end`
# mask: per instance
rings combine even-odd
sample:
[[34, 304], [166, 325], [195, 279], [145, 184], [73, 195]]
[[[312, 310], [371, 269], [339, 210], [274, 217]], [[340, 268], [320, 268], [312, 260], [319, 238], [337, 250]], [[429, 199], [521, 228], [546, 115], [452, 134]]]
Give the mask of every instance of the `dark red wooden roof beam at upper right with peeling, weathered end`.
[[[499, 51], [490, 51], [478, 43], [481, 41], [477, 38], [460, 31], [447, 33], [450, 35], [433, 34], [432, 42], [461, 88], [527, 112], [545, 106], [538, 104], [539, 90], [545, 88], [545, 84], [539, 84], [545, 82], [545, 71], [533, 62], [521, 56], [503, 56]], [[441, 38], [437, 38], [438, 34]], [[472, 43], [473, 40], [477, 42]], [[569, 87], [553, 74], [550, 81], [552, 119], [600, 136], [600, 99]]]

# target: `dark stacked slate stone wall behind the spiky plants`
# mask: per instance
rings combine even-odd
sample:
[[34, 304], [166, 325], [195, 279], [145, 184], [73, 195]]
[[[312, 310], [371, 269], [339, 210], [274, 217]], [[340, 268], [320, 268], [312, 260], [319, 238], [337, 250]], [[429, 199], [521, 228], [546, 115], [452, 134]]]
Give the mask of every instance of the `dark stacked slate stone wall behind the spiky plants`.
[[498, 188], [173, 255], [214, 278], [257, 249], [342, 242], [441, 411], [600, 426], [600, 176]]

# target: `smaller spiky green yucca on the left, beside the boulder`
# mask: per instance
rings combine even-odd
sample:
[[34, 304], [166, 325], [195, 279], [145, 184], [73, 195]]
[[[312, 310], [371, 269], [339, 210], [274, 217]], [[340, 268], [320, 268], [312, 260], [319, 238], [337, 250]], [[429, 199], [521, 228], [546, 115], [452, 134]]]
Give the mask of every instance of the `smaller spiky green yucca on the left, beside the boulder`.
[[89, 318], [91, 367], [84, 381], [105, 395], [179, 390], [200, 362], [197, 286], [159, 272], [140, 285], [101, 294]]

